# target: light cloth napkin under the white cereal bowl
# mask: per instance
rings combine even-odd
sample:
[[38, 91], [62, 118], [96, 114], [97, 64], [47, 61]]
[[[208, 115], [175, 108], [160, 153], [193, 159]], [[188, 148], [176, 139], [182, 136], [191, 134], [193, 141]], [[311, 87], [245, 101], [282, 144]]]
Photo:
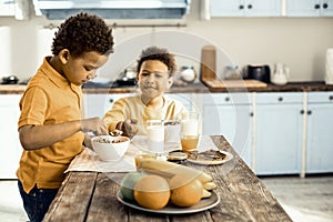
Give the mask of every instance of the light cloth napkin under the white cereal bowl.
[[89, 148], [77, 155], [64, 173], [70, 171], [94, 171], [94, 172], [133, 172], [135, 168], [135, 154], [138, 148], [130, 144], [129, 150], [124, 157], [119, 161], [102, 161], [98, 154]]

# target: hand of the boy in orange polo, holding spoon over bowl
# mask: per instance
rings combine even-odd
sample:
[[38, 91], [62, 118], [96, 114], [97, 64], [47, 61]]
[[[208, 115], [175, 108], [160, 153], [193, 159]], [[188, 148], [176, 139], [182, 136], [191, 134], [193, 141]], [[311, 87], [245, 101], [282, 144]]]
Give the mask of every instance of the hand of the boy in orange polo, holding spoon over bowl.
[[95, 135], [109, 134], [108, 128], [100, 118], [90, 118], [81, 120], [81, 131], [93, 132]]

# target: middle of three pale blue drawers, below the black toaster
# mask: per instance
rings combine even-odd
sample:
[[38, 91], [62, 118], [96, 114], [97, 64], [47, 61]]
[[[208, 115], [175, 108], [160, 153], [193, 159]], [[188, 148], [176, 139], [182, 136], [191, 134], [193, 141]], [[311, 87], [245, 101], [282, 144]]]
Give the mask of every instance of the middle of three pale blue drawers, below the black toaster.
[[303, 103], [303, 92], [256, 93], [256, 104]]

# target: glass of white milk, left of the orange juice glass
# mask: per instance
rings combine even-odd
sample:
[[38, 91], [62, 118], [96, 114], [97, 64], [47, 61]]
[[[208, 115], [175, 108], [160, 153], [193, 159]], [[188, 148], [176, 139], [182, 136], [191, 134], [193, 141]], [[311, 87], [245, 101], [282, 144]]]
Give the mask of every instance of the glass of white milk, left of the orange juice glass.
[[152, 153], [164, 153], [164, 121], [147, 121], [148, 150]]

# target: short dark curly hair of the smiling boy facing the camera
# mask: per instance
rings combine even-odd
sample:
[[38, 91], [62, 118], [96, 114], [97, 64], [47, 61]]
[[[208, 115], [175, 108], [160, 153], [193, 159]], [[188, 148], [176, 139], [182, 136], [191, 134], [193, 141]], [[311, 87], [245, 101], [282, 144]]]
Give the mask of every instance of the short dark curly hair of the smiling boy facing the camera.
[[176, 63], [174, 56], [169, 53], [167, 49], [158, 47], [149, 47], [145, 50], [142, 50], [137, 65], [137, 72], [140, 72], [141, 65], [147, 60], [159, 60], [163, 62], [170, 72], [170, 77], [173, 77], [176, 71]]

